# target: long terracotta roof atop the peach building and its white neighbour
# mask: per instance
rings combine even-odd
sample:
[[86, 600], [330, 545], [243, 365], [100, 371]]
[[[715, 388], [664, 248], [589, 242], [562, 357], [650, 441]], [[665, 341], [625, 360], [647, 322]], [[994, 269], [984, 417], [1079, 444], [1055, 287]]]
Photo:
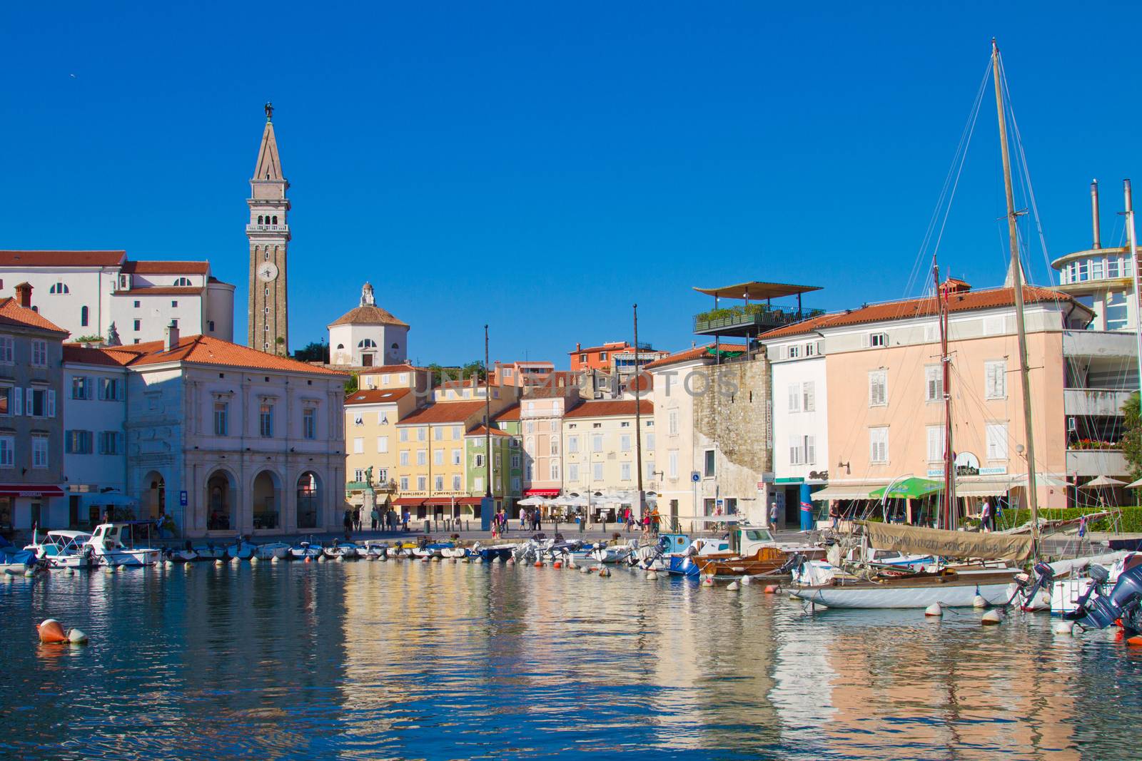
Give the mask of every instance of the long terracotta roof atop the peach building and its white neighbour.
[[[1083, 306], [1061, 291], [1053, 291], [1048, 288], [1036, 285], [1023, 286], [1024, 303], [1049, 303], [1049, 302], [1072, 302]], [[1014, 306], [1014, 289], [992, 288], [983, 291], [964, 291], [951, 293], [948, 298], [949, 311], [971, 311], [973, 309], [995, 309], [997, 307]], [[1086, 307], [1083, 307], [1086, 309]], [[761, 338], [785, 338], [787, 335], [801, 335], [826, 327], [843, 327], [846, 325], [860, 325], [863, 323], [884, 322], [887, 319], [907, 319], [911, 317], [934, 316], [938, 307], [933, 297], [923, 299], [904, 299], [902, 301], [888, 301], [886, 303], [875, 303], [860, 309], [847, 311], [836, 311], [820, 317], [811, 317], [793, 325], [778, 327]]]

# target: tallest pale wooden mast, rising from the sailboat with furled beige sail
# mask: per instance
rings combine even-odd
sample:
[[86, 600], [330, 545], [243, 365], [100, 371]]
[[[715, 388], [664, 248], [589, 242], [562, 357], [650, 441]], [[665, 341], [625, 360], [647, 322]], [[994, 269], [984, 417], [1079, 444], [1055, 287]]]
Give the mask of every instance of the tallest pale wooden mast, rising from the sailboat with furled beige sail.
[[1007, 193], [1007, 237], [1011, 242], [1011, 284], [1015, 297], [1015, 327], [1019, 333], [1019, 378], [1023, 387], [1023, 434], [1027, 438], [1027, 502], [1031, 508], [1031, 548], [1039, 556], [1039, 494], [1035, 478], [1035, 430], [1031, 426], [1031, 380], [1028, 377], [1027, 326], [1023, 321], [1023, 269], [1019, 261], [1015, 196], [1011, 187], [1011, 155], [1007, 152], [1007, 120], [1003, 107], [1003, 84], [999, 81], [999, 46], [991, 38], [991, 74], [996, 88], [996, 112], [999, 116], [999, 146], [1003, 151], [1003, 181]]

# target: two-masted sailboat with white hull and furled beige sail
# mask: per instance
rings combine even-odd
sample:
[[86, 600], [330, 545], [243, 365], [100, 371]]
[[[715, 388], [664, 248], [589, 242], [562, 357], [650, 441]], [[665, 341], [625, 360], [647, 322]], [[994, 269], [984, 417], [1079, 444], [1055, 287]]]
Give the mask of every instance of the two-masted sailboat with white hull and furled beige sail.
[[[1027, 437], [1028, 463], [1027, 496], [1031, 511], [1031, 532], [1022, 535], [982, 535], [955, 531], [958, 523], [955, 497], [955, 463], [951, 440], [951, 395], [948, 391], [950, 367], [948, 355], [948, 291], [941, 288], [939, 267], [933, 262], [935, 292], [939, 307], [940, 359], [943, 367], [944, 390], [944, 454], [943, 492], [940, 525], [943, 528], [920, 528], [892, 524], [863, 525], [871, 547], [899, 552], [928, 552], [943, 558], [989, 558], [1028, 561], [1039, 558], [1039, 511], [1035, 473], [1035, 437], [1031, 421], [1031, 389], [1028, 377], [1027, 330], [1023, 314], [1023, 277], [1019, 257], [1016, 211], [1011, 178], [1011, 156], [1007, 145], [1007, 123], [1000, 82], [999, 47], [991, 40], [991, 70], [995, 82], [996, 112], [999, 122], [999, 143], [1003, 152], [1004, 186], [1007, 201], [1007, 233], [1011, 245], [1011, 285], [1015, 306], [1019, 338], [1019, 371], [1022, 382], [1023, 424]], [[938, 568], [911, 573], [906, 569], [866, 569], [860, 576], [835, 576], [828, 584], [801, 586], [790, 593], [802, 600], [836, 608], [926, 608], [942, 606], [972, 606], [976, 598], [989, 605], [1006, 605], [1015, 599], [1022, 586], [1016, 584], [1018, 568], [988, 567], [987, 565]], [[1026, 578], [1026, 577], [1024, 577]], [[1032, 588], [1034, 589], [1034, 588]]]

